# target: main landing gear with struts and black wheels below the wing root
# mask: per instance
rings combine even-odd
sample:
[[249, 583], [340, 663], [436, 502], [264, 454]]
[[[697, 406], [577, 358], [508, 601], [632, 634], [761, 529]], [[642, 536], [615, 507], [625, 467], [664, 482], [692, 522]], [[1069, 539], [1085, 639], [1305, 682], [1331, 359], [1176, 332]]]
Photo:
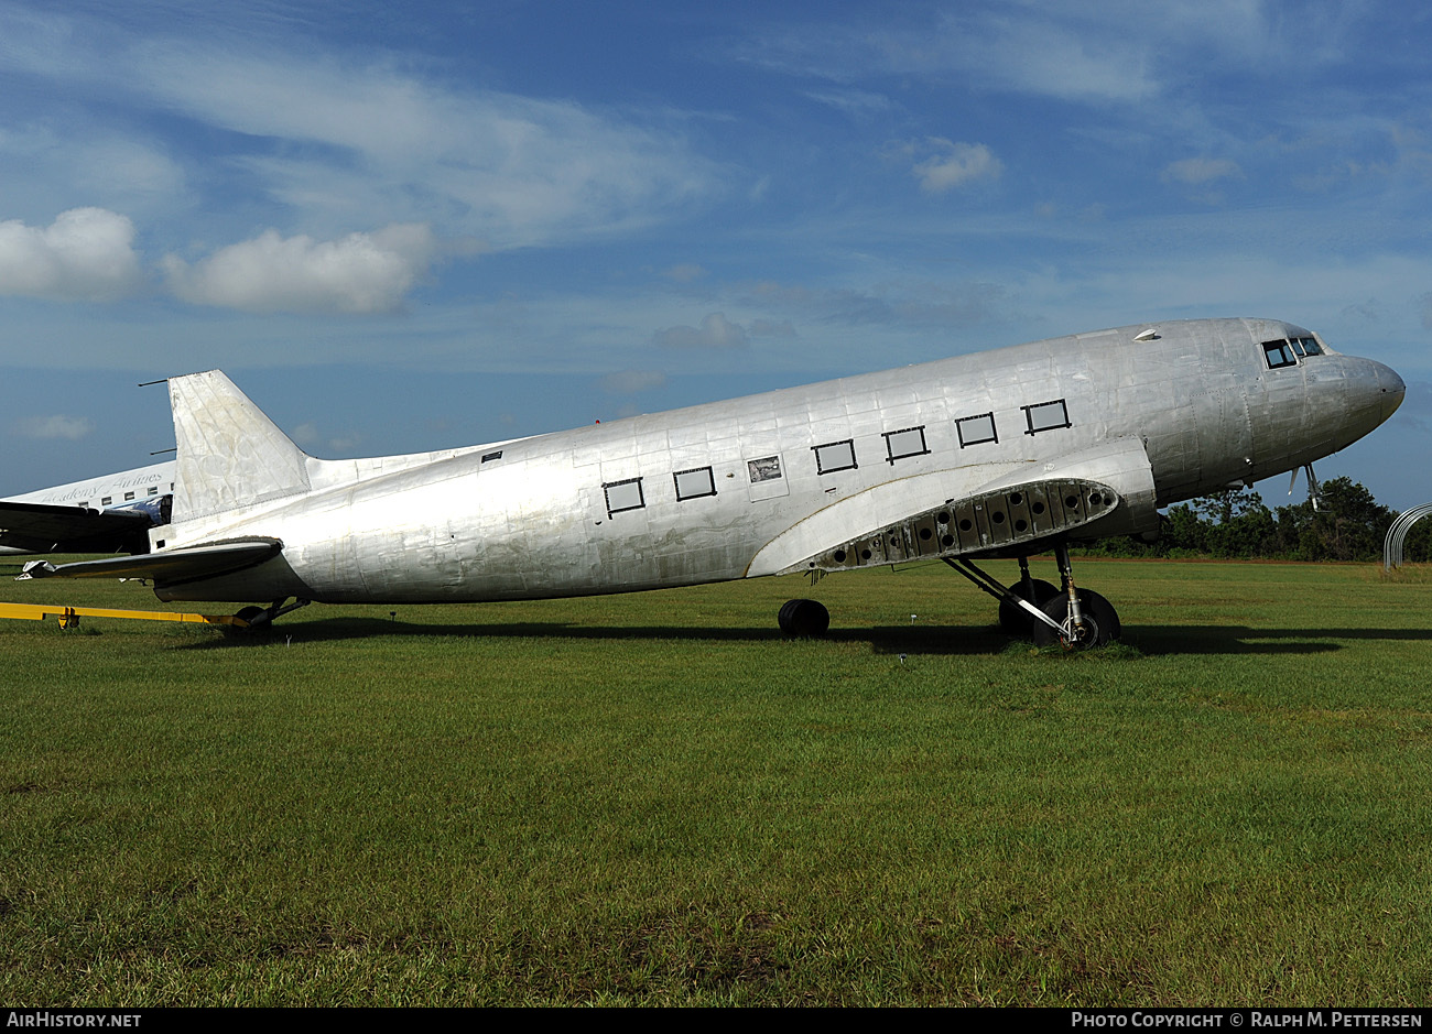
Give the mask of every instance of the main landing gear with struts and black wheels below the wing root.
[[1005, 589], [962, 557], [945, 563], [1000, 600], [1000, 627], [1011, 636], [1031, 637], [1035, 646], [1058, 643], [1065, 650], [1106, 646], [1118, 639], [1118, 614], [1093, 589], [1074, 584], [1068, 546], [1054, 547], [1061, 589], [1030, 577], [1030, 561], [1020, 557], [1020, 580]]

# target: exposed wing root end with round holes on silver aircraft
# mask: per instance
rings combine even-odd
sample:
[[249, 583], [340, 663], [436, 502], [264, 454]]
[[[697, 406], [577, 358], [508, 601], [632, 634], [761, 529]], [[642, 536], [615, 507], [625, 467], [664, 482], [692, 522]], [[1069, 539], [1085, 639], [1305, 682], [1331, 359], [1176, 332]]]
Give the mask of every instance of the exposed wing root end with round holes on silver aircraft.
[[1120, 503], [1117, 491], [1097, 481], [1028, 481], [949, 500], [895, 524], [872, 528], [779, 573], [845, 571], [1018, 549], [1101, 520]]

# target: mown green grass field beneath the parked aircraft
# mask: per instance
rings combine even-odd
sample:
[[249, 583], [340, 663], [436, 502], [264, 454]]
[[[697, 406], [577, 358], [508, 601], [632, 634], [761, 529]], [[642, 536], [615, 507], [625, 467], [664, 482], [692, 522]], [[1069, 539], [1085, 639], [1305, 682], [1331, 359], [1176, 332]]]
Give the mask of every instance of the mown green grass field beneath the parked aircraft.
[[1075, 571], [0, 622], [0, 1000], [1428, 1004], [1432, 579]]

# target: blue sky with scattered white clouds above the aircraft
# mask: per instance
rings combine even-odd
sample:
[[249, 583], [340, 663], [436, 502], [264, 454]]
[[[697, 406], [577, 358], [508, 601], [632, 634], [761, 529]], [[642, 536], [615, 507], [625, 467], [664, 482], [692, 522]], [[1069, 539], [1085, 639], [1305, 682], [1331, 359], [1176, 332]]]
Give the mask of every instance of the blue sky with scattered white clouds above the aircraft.
[[0, 0], [0, 493], [149, 463], [135, 385], [211, 367], [342, 457], [1253, 315], [1403, 375], [1319, 474], [1425, 503], [1429, 50], [1358, 0]]

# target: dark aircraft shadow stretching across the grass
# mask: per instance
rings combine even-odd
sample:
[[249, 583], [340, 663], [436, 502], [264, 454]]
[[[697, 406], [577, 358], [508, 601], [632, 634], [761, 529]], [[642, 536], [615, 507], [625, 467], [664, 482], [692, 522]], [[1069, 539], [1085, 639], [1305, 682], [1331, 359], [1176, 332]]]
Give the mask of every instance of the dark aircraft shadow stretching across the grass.
[[[248, 647], [274, 643], [312, 643], [371, 636], [432, 636], [441, 639], [567, 639], [573, 642], [672, 642], [772, 643], [785, 636], [768, 627], [709, 626], [576, 626], [558, 622], [494, 624], [425, 624], [381, 617], [334, 617], [271, 627], [258, 633], [232, 633], [186, 649]], [[891, 654], [991, 654], [1012, 642], [998, 626], [875, 626], [831, 629], [825, 642], [869, 644]], [[1123, 643], [1147, 656], [1169, 654], [1295, 654], [1343, 649], [1339, 640], [1432, 642], [1432, 629], [1254, 629], [1244, 624], [1124, 626]], [[1030, 649], [1034, 649], [1032, 644]]]

